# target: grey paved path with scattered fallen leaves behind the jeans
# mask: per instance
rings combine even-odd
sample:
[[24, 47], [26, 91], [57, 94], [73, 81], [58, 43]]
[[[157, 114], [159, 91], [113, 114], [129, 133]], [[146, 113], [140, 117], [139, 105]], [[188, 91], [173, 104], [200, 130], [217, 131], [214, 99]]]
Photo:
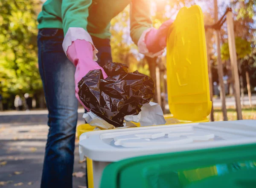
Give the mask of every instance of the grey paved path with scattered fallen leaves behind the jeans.
[[[79, 110], [79, 122], [83, 110]], [[39, 188], [47, 139], [47, 110], [0, 113], [0, 187]], [[85, 172], [79, 163], [76, 141], [74, 172]], [[85, 186], [85, 178], [73, 177], [73, 188]]]

